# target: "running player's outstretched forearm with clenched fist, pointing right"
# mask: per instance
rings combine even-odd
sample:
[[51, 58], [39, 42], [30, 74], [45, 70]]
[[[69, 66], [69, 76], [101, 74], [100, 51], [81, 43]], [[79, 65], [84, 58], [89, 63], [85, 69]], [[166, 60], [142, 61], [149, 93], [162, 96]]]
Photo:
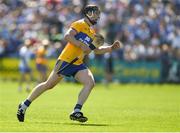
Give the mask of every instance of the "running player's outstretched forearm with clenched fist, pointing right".
[[123, 44], [116, 40], [112, 45], [110, 46], [100, 46], [94, 50], [95, 54], [104, 54], [108, 52], [112, 52], [114, 50], [117, 50], [119, 48], [122, 48]]

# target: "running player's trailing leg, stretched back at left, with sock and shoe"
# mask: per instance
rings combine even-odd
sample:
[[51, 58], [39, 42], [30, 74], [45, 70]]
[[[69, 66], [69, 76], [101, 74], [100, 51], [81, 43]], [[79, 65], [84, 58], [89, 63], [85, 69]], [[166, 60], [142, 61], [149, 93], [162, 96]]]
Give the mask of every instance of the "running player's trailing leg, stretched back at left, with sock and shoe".
[[43, 92], [52, 89], [63, 78], [61, 75], [57, 75], [57, 69], [58, 65], [56, 65], [55, 69], [51, 72], [47, 81], [37, 85], [28, 98], [19, 105], [17, 117], [20, 122], [24, 121], [25, 111], [31, 102], [38, 98]]

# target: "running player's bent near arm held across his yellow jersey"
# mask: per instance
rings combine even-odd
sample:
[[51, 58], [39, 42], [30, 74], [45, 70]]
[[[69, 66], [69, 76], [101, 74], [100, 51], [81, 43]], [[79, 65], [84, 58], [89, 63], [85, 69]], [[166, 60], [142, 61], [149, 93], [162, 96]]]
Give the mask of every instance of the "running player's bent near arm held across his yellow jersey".
[[75, 46], [77, 46], [77, 47], [80, 47], [84, 52], [90, 51], [90, 48], [89, 48], [88, 46], [83, 45], [82, 42], [76, 40], [76, 38], [74, 37], [76, 34], [77, 34], [77, 31], [76, 31], [75, 29], [73, 29], [73, 28], [70, 28], [70, 29], [65, 33], [64, 39], [65, 39], [67, 42], [69, 42], [69, 43], [71, 43], [71, 44], [73, 44], [73, 45], [75, 45]]

